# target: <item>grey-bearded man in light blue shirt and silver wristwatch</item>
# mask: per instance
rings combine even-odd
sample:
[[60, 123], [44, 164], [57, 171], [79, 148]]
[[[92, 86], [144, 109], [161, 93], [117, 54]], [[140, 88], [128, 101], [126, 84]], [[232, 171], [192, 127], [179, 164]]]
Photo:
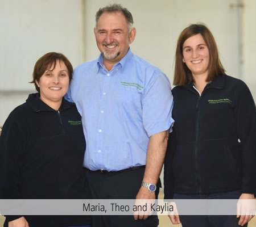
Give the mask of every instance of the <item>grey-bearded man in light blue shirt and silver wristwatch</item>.
[[[76, 103], [86, 139], [84, 167], [94, 199], [155, 199], [170, 128], [168, 78], [133, 54], [133, 16], [121, 5], [96, 14], [101, 54], [77, 66], [67, 99]], [[145, 167], [146, 165], [146, 167]], [[156, 216], [97, 216], [93, 226], [157, 226]]]

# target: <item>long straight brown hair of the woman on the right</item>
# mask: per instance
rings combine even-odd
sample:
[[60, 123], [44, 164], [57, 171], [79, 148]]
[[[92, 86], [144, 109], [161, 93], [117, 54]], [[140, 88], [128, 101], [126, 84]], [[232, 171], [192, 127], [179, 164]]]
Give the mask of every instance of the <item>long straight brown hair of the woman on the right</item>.
[[177, 40], [177, 48], [175, 54], [175, 69], [174, 69], [174, 85], [185, 85], [193, 81], [192, 73], [187, 65], [183, 62], [183, 44], [191, 36], [201, 34], [209, 49], [210, 59], [208, 66], [207, 82], [213, 81], [218, 75], [225, 73], [225, 69], [221, 64], [218, 56], [218, 48], [216, 41], [210, 32], [209, 28], [204, 24], [191, 24], [185, 28]]

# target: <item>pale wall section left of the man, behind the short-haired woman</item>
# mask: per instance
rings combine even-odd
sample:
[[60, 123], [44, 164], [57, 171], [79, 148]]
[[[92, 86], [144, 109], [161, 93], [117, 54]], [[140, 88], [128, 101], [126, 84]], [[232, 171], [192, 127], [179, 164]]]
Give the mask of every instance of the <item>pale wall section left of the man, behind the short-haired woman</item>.
[[35, 92], [32, 70], [47, 52], [82, 62], [80, 0], [0, 0], [0, 125], [9, 112]]

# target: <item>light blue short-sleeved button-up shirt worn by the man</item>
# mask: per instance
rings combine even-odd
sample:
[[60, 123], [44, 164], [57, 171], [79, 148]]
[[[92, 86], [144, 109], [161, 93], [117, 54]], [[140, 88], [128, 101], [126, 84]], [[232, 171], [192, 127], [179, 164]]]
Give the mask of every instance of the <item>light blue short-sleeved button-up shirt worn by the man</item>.
[[77, 66], [65, 98], [82, 116], [90, 170], [145, 165], [150, 136], [174, 123], [168, 78], [130, 49], [110, 71], [101, 55]]

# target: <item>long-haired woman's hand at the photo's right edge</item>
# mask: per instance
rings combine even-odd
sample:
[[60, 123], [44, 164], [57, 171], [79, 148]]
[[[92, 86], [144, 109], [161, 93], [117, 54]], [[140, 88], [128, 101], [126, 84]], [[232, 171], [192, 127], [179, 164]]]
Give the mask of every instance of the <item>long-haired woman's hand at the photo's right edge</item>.
[[[250, 201], [242, 201], [250, 199]], [[251, 202], [253, 200], [253, 202]], [[237, 203], [237, 218], [240, 217], [238, 221], [238, 225], [245, 225], [247, 222], [251, 220], [255, 215], [255, 200], [253, 194], [245, 194], [243, 193]]]

